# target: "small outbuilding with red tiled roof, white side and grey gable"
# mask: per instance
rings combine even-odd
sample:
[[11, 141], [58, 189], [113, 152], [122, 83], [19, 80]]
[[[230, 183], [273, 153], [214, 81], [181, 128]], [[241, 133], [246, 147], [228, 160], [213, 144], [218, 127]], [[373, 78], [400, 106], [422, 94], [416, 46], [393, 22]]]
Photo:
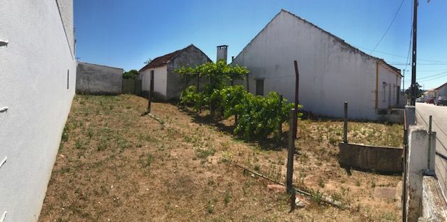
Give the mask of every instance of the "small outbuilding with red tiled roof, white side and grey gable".
[[142, 92], [147, 94], [149, 91], [150, 76], [154, 73], [154, 96], [163, 101], [178, 99], [186, 83], [174, 72], [175, 69], [182, 66], [195, 67], [208, 61], [211, 59], [194, 45], [157, 57], [140, 69]]

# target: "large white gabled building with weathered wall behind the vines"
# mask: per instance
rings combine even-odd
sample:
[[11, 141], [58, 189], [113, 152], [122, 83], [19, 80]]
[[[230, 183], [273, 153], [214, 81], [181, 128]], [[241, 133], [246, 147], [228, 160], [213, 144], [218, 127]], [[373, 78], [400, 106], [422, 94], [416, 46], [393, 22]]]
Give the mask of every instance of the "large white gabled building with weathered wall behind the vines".
[[249, 68], [252, 93], [277, 91], [294, 101], [294, 60], [303, 110], [343, 117], [347, 101], [350, 118], [378, 119], [379, 113], [405, 102], [400, 70], [286, 10], [244, 47], [233, 64]]

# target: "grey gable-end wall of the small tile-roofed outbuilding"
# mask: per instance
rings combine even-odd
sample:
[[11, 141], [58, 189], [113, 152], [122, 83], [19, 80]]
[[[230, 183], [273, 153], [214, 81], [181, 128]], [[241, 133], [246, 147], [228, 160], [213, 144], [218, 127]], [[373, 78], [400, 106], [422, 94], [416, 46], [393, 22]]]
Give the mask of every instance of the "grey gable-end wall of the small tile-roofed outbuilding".
[[[168, 86], [166, 94], [168, 99], [179, 99], [180, 92], [186, 87], [186, 82], [182, 79], [178, 73], [175, 73], [175, 69], [182, 68], [182, 66], [196, 67], [201, 64], [205, 64], [210, 59], [205, 53], [200, 51], [196, 47], [187, 47], [181, 54], [179, 54], [173, 61], [168, 63]], [[204, 85], [207, 78], [203, 77], [200, 84]], [[208, 80], [209, 81], [209, 80]], [[189, 84], [196, 85], [197, 80], [194, 78]]]

